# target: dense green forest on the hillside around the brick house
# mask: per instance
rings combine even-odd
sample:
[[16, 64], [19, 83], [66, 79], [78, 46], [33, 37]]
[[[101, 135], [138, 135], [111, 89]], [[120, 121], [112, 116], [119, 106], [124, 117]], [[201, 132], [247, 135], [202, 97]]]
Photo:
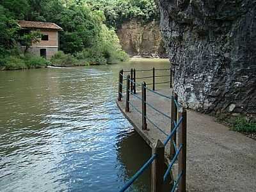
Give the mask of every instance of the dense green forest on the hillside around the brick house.
[[[119, 44], [116, 28], [125, 20], [157, 19], [154, 0], [4, 0], [0, 1], [0, 67], [30, 68], [49, 65], [105, 65], [128, 59]], [[51, 61], [21, 52], [36, 31], [20, 35], [18, 20], [54, 22], [60, 32], [60, 52]]]

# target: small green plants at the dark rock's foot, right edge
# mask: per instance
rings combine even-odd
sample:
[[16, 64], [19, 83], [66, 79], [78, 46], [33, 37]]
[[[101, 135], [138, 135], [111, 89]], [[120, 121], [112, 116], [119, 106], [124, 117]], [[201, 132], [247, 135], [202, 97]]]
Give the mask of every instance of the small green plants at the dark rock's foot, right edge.
[[246, 118], [239, 117], [233, 129], [238, 132], [256, 132], [256, 122], [248, 122]]

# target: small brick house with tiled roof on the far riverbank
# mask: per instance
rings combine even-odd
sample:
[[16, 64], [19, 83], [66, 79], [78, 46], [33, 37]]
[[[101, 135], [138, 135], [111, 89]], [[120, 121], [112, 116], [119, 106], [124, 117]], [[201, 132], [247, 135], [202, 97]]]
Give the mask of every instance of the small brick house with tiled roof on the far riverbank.
[[[31, 54], [49, 59], [59, 50], [59, 31], [63, 31], [60, 26], [51, 22], [35, 22], [27, 20], [19, 20], [18, 24], [23, 33], [28, 33], [31, 30], [37, 30], [42, 33], [40, 42], [32, 44], [31, 47], [29, 47], [28, 52]], [[26, 49], [24, 46], [21, 47], [23, 51]]]

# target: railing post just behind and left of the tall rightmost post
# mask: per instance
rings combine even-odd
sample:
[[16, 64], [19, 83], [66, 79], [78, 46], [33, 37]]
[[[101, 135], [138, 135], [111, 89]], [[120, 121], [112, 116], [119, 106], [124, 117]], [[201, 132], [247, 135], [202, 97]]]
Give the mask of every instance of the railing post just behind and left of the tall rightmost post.
[[[177, 106], [175, 104], [175, 100], [176, 102], [178, 102], [178, 95], [176, 93], [174, 93], [174, 91], [172, 92], [172, 120], [171, 120], [171, 132], [173, 131], [173, 129], [175, 128], [175, 124], [174, 122], [176, 122], [177, 124], [177, 113], [178, 113], [178, 109]], [[175, 148], [173, 146], [172, 141], [174, 141], [174, 143], [176, 143], [176, 134], [177, 132], [175, 132], [175, 134], [173, 135], [172, 139], [170, 140], [170, 158], [172, 159], [175, 156]]]

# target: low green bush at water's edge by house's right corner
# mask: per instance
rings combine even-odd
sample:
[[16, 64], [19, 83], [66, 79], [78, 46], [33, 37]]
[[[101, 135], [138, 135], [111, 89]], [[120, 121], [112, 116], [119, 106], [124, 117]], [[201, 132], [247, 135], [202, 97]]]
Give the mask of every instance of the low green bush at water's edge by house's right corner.
[[72, 67], [85, 65], [82, 61], [78, 61], [72, 54], [65, 54], [62, 51], [58, 51], [51, 58], [52, 66], [56, 67]]

